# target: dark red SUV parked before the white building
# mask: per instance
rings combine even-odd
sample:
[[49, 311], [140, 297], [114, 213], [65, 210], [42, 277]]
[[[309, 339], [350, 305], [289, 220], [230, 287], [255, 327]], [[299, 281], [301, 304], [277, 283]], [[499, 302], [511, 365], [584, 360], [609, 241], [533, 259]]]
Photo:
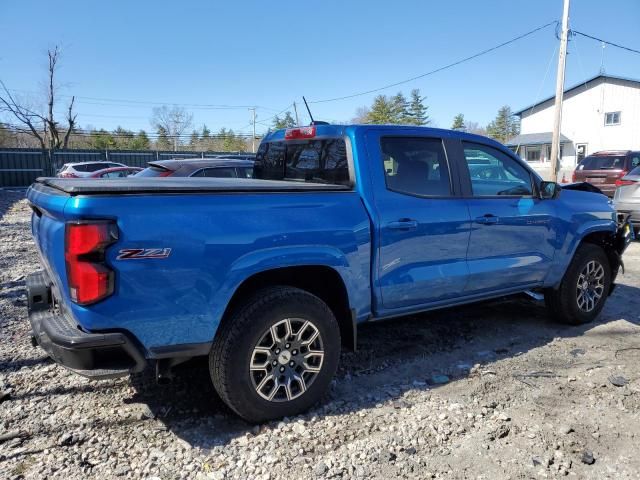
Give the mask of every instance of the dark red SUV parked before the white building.
[[616, 181], [640, 165], [640, 152], [611, 150], [585, 157], [573, 172], [574, 182], [588, 182], [612, 197]]

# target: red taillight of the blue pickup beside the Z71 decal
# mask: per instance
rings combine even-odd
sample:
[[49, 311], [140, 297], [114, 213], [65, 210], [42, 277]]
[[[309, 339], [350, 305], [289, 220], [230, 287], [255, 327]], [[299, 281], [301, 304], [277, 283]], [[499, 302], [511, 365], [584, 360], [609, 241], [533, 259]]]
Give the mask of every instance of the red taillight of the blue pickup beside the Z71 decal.
[[104, 252], [117, 238], [118, 228], [110, 221], [67, 223], [64, 256], [73, 302], [88, 305], [113, 293], [114, 274]]

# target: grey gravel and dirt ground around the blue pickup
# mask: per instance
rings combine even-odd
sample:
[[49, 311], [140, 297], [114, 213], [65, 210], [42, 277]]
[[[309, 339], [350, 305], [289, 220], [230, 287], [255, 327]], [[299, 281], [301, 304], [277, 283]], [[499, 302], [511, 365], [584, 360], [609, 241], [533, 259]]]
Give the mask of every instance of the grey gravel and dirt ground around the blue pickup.
[[591, 325], [524, 299], [370, 324], [319, 406], [257, 427], [203, 361], [92, 382], [33, 348], [23, 193], [0, 218], [0, 478], [640, 478], [640, 244]]

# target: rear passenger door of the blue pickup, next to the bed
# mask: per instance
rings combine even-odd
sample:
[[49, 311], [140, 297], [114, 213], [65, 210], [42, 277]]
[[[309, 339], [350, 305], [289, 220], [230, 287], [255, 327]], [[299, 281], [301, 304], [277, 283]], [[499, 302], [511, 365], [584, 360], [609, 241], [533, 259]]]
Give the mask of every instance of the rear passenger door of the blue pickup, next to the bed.
[[[404, 133], [406, 132], [406, 133]], [[427, 305], [462, 294], [470, 217], [442, 138], [367, 132], [375, 209], [375, 307]]]

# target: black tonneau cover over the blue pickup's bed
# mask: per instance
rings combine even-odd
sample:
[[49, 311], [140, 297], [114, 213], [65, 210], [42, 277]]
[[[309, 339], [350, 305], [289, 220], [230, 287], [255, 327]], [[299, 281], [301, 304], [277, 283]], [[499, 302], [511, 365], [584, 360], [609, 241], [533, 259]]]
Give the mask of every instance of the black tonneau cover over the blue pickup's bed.
[[120, 178], [76, 179], [45, 178], [36, 183], [44, 184], [70, 195], [107, 195], [138, 193], [216, 193], [216, 192], [314, 192], [349, 191], [345, 185], [322, 183], [284, 182], [278, 180], [254, 180], [244, 178]]

